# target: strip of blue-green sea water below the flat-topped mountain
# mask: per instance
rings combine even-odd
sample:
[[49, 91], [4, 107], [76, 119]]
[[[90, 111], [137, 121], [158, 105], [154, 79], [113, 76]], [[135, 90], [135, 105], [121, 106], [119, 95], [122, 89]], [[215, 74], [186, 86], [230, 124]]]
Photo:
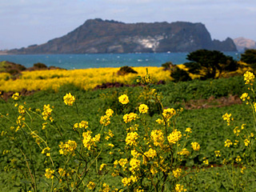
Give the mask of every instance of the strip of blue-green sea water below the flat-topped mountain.
[[[223, 52], [239, 59], [238, 52]], [[165, 62], [182, 64], [188, 62], [188, 53], [158, 54], [18, 54], [0, 55], [0, 61], [9, 61], [30, 67], [42, 62], [46, 66], [58, 66], [67, 70], [121, 66], [162, 66]]]

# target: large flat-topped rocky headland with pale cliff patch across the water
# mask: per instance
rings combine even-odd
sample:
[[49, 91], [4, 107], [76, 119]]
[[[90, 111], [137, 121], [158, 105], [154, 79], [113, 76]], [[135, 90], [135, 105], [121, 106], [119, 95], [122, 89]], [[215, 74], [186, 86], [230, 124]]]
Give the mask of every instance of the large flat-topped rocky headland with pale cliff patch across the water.
[[236, 50], [232, 39], [212, 41], [202, 23], [123, 23], [87, 20], [61, 38], [42, 45], [9, 50], [8, 54], [98, 54], [190, 52], [198, 49]]

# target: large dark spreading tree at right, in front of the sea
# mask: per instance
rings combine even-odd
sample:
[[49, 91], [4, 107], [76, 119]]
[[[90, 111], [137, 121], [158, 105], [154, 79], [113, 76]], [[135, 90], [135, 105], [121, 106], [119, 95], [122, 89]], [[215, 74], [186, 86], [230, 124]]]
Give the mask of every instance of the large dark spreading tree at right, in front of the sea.
[[238, 69], [238, 63], [218, 50], [196, 50], [187, 55], [184, 65], [190, 74], [199, 74], [201, 79], [219, 78], [224, 71]]

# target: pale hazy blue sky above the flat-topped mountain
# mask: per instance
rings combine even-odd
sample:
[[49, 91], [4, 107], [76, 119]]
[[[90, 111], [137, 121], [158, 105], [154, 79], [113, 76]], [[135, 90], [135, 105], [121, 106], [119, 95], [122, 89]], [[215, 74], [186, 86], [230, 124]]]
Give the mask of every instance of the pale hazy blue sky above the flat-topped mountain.
[[42, 44], [90, 18], [202, 22], [213, 39], [256, 40], [256, 0], [0, 0], [0, 50]]

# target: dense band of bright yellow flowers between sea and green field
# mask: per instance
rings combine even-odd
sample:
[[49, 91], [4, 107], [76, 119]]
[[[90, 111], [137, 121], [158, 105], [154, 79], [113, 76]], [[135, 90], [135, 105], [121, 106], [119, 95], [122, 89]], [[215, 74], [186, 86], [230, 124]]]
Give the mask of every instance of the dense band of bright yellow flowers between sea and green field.
[[83, 90], [91, 90], [97, 85], [106, 82], [122, 82], [130, 84], [138, 76], [146, 74], [146, 68], [154, 77], [153, 82], [159, 80], [170, 81], [170, 71], [162, 70], [162, 67], [134, 67], [138, 74], [127, 74], [118, 76], [119, 68], [96, 68], [84, 70], [37, 70], [22, 72], [21, 78], [7, 80], [6, 74], [0, 75], [0, 90], [20, 91], [26, 90], [47, 90], [58, 88], [65, 84], [73, 84]]

